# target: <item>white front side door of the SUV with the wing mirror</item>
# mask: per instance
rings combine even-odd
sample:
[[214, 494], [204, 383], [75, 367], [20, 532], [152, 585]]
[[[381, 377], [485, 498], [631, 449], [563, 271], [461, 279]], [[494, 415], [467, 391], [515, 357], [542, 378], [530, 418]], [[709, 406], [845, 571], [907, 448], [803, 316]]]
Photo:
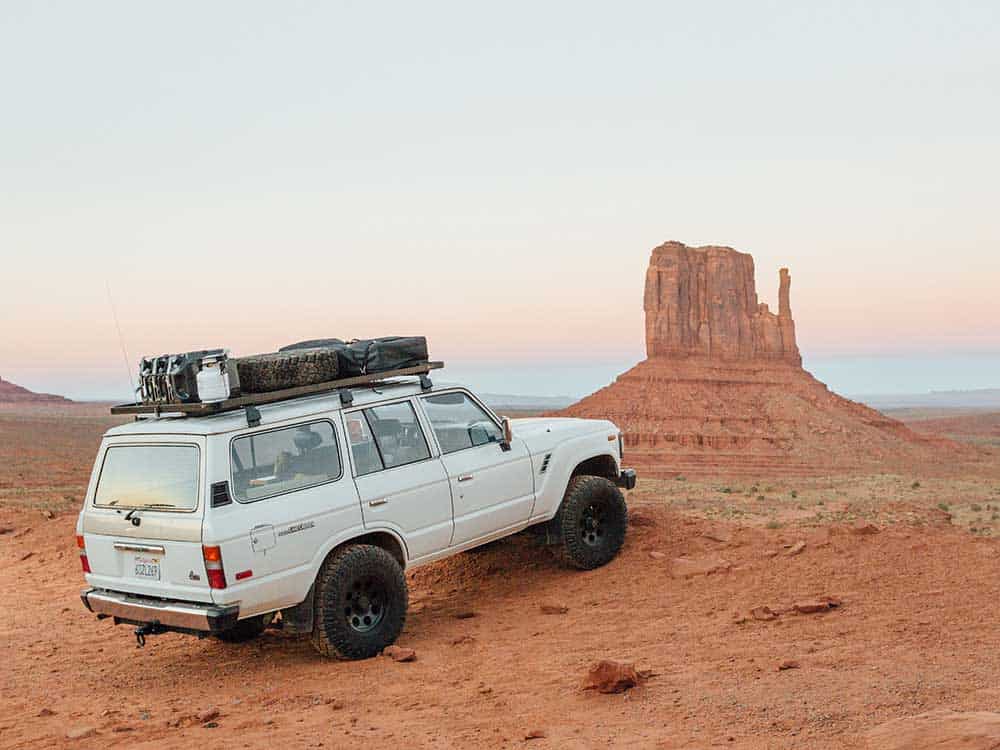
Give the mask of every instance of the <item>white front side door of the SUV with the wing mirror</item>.
[[503, 450], [503, 431], [497, 420], [465, 391], [435, 393], [420, 401], [451, 485], [452, 544], [527, 521], [535, 502], [535, 484], [524, 441], [515, 436], [510, 450]]

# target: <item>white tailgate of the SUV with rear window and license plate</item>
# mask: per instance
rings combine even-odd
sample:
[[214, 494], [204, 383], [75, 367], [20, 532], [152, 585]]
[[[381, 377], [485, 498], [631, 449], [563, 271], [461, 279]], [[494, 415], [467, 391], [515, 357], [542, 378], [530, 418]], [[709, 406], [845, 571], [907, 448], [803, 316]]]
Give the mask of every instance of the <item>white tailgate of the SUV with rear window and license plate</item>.
[[202, 558], [205, 439], [105, 441], [86, 498], [87, 582], [97, 588], [211, 601]]

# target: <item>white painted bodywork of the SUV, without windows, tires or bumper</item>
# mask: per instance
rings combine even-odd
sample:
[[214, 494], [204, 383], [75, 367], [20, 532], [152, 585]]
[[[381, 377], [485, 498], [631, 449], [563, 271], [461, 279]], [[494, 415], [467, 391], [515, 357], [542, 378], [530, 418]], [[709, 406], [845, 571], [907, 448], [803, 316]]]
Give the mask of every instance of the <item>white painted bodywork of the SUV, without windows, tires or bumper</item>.
[[[420, 396], [456, 392], [482, 406], [459, 386], [422, 391], [402, 383], [379, 392], [356, 389], [347, 407], [337, 394], [264, 405], [256, 427], [248, 426], [242, 412], [230, 412], [151, 418], [109, 430], [78, 521], [93, 571], [85, 576], [87, 583], [113, 592], [236, 606], [240, 618], [251, 617], [305, 600], [327, 556], [346, 542], [387, 535], [405, 567], [421, 565], [551, 519], [585, 461], [600, 462], [609, 478], [621, 469], [618, 428], [603, 420], [516, 419], [509, 450], [488, 442], [442, 454]], [[404, 400], [413, 405], [429, 457], [359, 476], [347, 418]], [[483, 410], [500, 425], [495, 414]], [[338, 477], [261, 499], [236, 497], [233, 441], [317, 421], [333, 427]], [[199, 448], [194, 510], [142, 510], [136, 514], [140, 525], [133, 526], [124, 511], [94, 505], [106, 451], [132, 444]], [[219, 483], [228, 483], [232, 500], [214, 507], [213, 486]], [[139, 554], [122, 549], [130, 544], [163, 548], [159, 581], [129, 574]], [[203, 545], [221, 548], [225, 588], [209, 587]]]

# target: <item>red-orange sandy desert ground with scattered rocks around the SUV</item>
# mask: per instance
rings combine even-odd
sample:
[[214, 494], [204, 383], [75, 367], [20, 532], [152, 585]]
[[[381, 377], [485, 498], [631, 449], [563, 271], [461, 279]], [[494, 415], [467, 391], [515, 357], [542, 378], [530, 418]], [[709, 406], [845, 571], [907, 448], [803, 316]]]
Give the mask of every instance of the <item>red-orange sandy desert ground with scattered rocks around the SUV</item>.
[[[276, 631], [140, 650], [83, 609], [73, 524], [108, 423], [0, 411], [3, 748], [862, 748], [896, 717], [1000, 709], [1000, 456], [961, 479], [644, 481], [611, 565], [521, 535], [419, 569], [417, 660], [340, 663]], [[602, 658], [653, 676], [580, 690]]]

